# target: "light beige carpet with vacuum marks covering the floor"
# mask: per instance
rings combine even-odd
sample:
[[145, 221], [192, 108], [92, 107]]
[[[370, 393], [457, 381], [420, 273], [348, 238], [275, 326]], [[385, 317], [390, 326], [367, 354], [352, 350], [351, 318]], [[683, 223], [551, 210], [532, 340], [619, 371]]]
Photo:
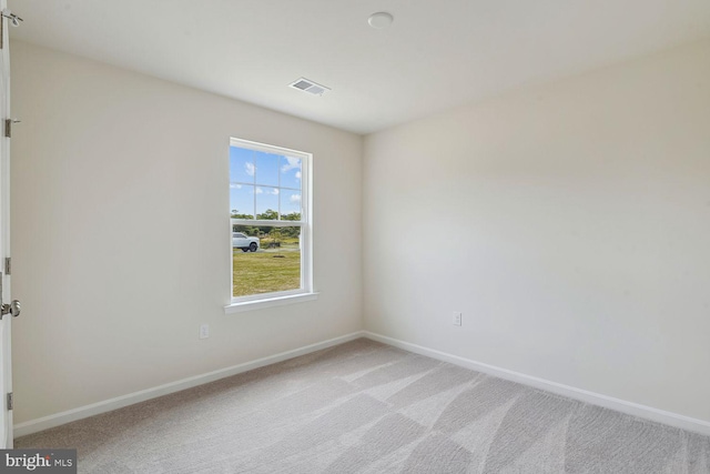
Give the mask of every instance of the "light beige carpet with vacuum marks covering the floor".
[[710, 473], [710, 437], [357, 340], [16, 441], [82, 473]]

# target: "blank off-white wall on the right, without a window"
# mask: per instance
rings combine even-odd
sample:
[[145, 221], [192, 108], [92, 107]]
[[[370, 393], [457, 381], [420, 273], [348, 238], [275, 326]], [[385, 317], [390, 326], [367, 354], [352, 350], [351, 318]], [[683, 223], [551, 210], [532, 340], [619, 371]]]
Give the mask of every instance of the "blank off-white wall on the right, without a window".
[[368, 135], [363, 173], [367, 330], [710, 421], [710, 42]]

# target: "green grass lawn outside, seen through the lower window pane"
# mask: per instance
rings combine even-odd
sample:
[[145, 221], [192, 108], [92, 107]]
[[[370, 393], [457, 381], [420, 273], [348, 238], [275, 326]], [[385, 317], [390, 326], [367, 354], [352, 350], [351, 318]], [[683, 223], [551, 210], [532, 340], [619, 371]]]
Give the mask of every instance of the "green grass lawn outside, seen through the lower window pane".
[[232, 260], [234, 296], [301, 288], [301, 251], [288, 249], [288, 245], [254, 253], [234, 249]]

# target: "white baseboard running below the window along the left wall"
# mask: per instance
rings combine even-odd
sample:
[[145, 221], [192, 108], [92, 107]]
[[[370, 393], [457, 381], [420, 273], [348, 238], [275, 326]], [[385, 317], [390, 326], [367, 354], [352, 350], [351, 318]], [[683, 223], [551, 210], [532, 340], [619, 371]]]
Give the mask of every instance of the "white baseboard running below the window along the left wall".
[[133, 405], [134, 403], [140, 403], [146, 400], [168, 395], [170, 393], [180, 392], [181, 390], [192, 389], [193, 386], [202, 385], [209, 382], [214, 382], [220, 379], [236, 375], [242, 372], [247, 372], [254, 369], [263, 367], [264, 365], [275, 364], [276, 362], [286, 361], [288, 359], [297, 357], [300, 355], [308, 354], [311, 352], [320, 351], [322, 349], [343, 344], [348, 341], [354, 341], [356, 339], [363, 337], [364, 335], [365, 335], [364, 331], [357, 331], [339, 337], [334, 337], [327, 341], [294, 349], [292, 351], [286, 351], [280, 354], [270, 355], [267, 357], [257, 359], [255, 361], [245, 362], [243, 364], [233, 365], [231, 367], [221, 369], [219, 371], [195, 375], [195, 376], [183, 379], [176, 382], [159, 385], [152, 389], [142, 390], [140, 392], [129, 393], [126, 395], [116, 396], [115, 399], [92, 403], [91, 405], [80, 406], [78, 409], [68, 410], [65, 412], [57, 413], [49, 416], [43, 416], [41, 418], [30, 420], [28, 422], [19, 423], [14, 425], [13, 436], [14, 437], [24, 436], [28, 434], [43, 431], [43, 430], [49, 430], [54, 426], [60, 426], [67, 423], [75, 422], [78, 420], [82, 420], [89, 416], [98, 415], [100, 413], [111, 412], [113, 410], [122, 409], [128, 405]]

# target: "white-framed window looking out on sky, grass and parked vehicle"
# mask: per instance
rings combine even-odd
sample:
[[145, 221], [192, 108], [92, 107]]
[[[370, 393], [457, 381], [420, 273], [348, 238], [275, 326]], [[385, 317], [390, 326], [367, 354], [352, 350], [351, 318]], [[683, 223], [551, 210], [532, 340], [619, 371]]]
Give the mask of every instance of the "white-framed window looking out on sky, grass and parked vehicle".
[[227, 310], [312, 294], [311, 159], [310, 153], [231, 139]]

